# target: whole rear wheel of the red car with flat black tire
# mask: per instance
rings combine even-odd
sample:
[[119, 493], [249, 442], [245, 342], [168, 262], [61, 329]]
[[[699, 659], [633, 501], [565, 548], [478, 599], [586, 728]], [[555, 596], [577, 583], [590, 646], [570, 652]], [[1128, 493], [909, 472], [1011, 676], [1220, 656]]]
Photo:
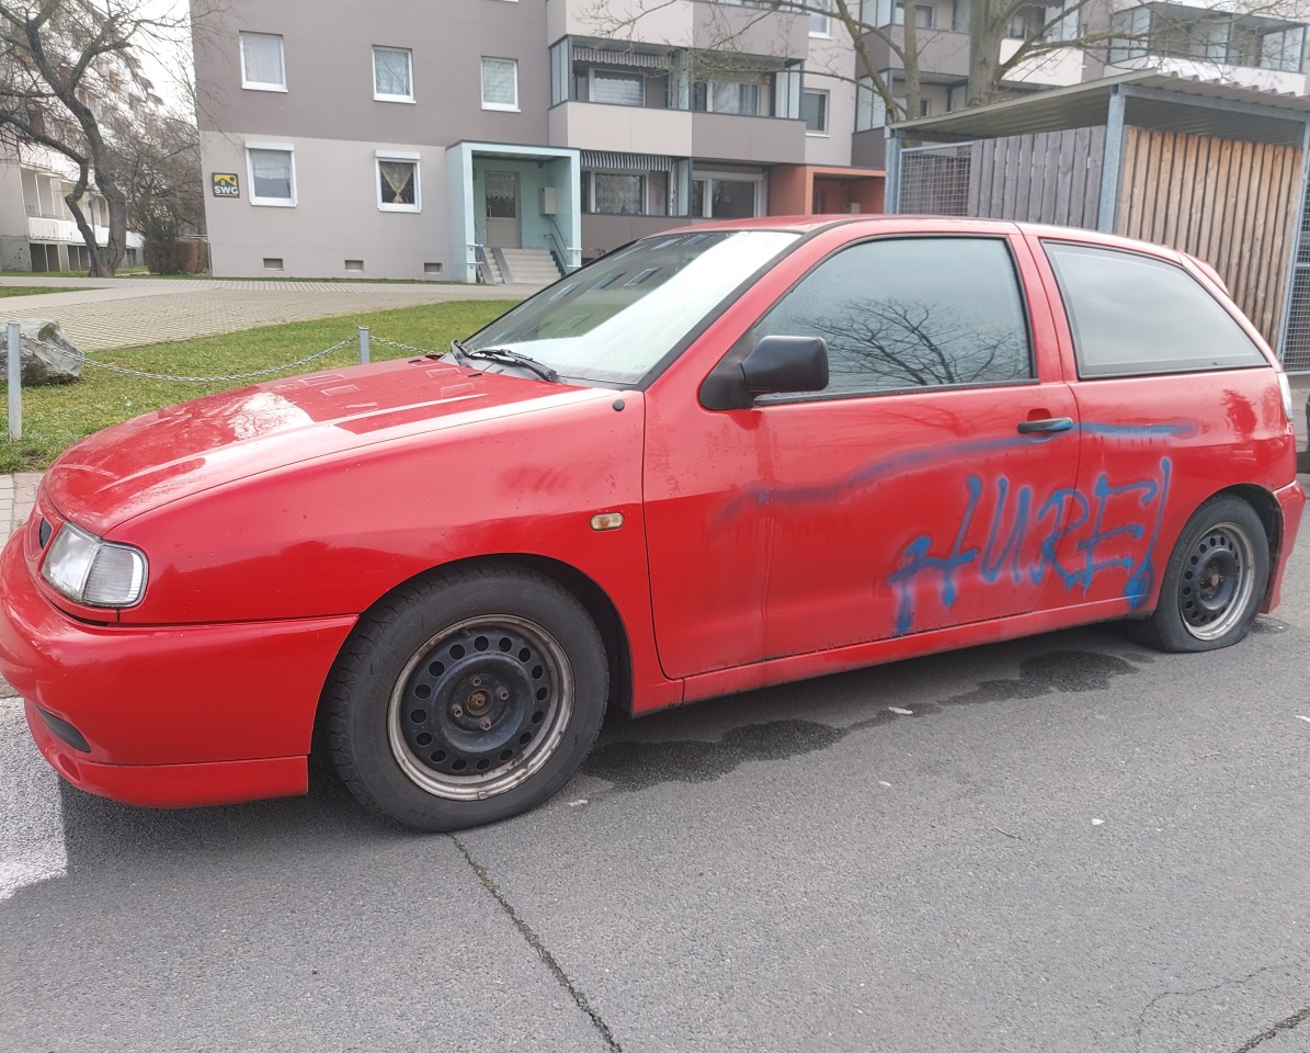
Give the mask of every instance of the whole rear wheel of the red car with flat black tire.
[[1239, 497], [1214, 497], [1183, 527], [1154, 612], [1125, 628], [1157, 650], [1230, 646], [1250, 631], [1268, 581], [1269, 539], [1260, 517]]

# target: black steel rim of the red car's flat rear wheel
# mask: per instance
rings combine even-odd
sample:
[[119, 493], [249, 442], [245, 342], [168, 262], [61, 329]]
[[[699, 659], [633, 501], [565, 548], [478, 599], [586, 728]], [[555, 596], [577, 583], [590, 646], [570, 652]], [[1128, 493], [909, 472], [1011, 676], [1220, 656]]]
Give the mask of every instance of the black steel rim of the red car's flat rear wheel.
[[1188, 549], [1179, 580], [1183, 627], [1217, 640], [1246, 616], [1255, 591], [1255, 546], [1237, 523], [1216, 523]]

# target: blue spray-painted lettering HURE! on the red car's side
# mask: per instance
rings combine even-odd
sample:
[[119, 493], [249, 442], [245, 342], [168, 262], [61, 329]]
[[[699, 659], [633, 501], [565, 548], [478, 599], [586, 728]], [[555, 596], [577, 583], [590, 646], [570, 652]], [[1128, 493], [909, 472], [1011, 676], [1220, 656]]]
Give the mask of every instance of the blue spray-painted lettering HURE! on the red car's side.
[[[1049, 573], [1068, 591], [1086, 591], [1099, 576], [1120, 572], [1124, 574], [1124, 597], [1136, 610], [1155, 581], [1155, 542], [1159, 539], [1171, 472], [1170, 459], [1161, 458], [1154, 479], [1114, 485], [1106, 473], [1100, 473], [1090, 493], [1072, 487], [1060, 488], [1035, 513], [1032, 488], [1020, 487], [1011, 501], [1010, 480], [1002, 476], [996, 480], [996, 505], [981, 548], [965, 548], [985, 490], [981, 477], [968, 476], [964, 513], [946, 555], [933, 555], [934, 539], [922, 534], [905, 546], [900, 566], [888, 576], [888, 584], [896, 591], [896, 631], [905, 633], [914, 628], [914, 585], [921, 576], [938, 576], [942, 605], [951, 608], [959, 597], [960, 569], [975, 561], [977, 576], [986, 585], [994, 585], [1002, 577], [1020, 585], [1024, 576], [1034, 585], [1040, 585]], [[1133, 509], [1127, 515], [1134, 518], [1125, 518], [1125, 502]], [[1079, 536], [1083, 532], [1085, 536]], [[1040, 538], [1040, 544], [1036, 560], [1024, 566], [1023, 548], [1030, 536]], [[1078, 538], [1072, 551], [1066, 538]], [[1132, 542], [1145, 539], [1145, 543], [1134, 546], [1134, 556], [1106, 556], [1110, 543], [1120, 538]], [[1061, 563], [1061, 555], [1069, 565]]]

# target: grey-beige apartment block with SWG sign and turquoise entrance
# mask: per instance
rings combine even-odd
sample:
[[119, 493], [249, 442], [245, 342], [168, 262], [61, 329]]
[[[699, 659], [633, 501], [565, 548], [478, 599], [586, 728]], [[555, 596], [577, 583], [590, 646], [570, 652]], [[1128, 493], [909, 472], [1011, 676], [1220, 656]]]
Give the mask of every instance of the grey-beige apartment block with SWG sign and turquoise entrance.
[[[879, 211], [825, 17], [232, 0], [195, 33], [219, 275], [496, 281], [718, 218]], [[730, 46], [726, 46], [730, 45]], [[545, 277], [545, 275], [542, 275]]]

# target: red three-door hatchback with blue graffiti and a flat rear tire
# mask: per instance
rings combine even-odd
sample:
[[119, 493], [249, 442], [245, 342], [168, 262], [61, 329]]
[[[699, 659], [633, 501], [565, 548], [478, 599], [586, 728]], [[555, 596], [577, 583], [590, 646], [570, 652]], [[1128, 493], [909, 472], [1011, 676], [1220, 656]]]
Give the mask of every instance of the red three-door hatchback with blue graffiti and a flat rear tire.
[[1216, 274], [1086, 231], [760, 219], [635, 241], [440, 357], [111, 427], [0, 566], [48, 762], [157, 806], [307, 789], [447, 830], [648, 713], [1125, 619], [1272, 610], [1286, 380]]

